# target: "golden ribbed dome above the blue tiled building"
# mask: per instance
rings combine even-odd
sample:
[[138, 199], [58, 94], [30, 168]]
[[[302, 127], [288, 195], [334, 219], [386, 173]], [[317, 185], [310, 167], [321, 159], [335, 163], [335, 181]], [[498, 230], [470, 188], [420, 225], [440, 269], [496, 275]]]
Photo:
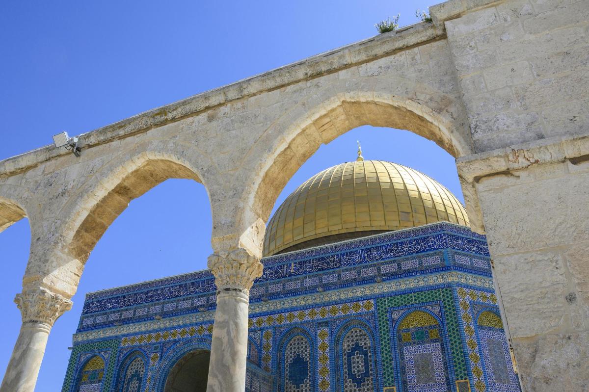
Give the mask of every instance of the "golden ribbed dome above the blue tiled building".
[[359, 157], [323, 170], [290, 194], [268, 222], [263, 253], [439, 221], [469, 226], [461, 202], [444, 186], [412, 168]]

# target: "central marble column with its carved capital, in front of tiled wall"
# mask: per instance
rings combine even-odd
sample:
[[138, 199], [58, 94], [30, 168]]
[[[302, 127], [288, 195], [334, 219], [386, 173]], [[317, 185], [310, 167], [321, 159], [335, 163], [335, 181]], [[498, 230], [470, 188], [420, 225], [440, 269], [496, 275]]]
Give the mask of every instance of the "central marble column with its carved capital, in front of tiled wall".
[[209, 268], [217, 284], [217, 310], [207, 392], [243, 392], [250, 288], [262, 276], [263, 266], [258, 258], [237, 248], [210, 255]]

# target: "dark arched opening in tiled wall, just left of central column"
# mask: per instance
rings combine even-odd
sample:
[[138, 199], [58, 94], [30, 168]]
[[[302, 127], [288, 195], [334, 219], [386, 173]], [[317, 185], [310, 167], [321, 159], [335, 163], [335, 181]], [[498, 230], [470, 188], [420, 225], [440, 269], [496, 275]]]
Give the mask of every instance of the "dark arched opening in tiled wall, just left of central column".
[[171, 368], [163, 392], [205, 392], [209, 378], [209, 350], [195, 350]]

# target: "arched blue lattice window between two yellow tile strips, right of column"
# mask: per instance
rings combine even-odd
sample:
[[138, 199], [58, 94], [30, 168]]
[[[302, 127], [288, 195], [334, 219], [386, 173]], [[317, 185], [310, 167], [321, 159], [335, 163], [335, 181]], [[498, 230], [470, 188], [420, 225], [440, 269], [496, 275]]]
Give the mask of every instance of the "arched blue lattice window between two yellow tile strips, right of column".
[[279, 344], [278, 390], [306, 392], [315, 390], [315, 347], [303, 328], [294, 327]]

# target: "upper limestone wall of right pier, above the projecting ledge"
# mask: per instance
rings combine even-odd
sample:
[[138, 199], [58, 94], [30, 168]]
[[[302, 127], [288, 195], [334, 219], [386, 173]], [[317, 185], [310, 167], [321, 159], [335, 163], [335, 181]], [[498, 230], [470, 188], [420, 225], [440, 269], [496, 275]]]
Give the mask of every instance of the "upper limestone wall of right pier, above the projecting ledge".
[[445, 22], [476, 152], [589, 130], [589, 2], [512, 0]]

